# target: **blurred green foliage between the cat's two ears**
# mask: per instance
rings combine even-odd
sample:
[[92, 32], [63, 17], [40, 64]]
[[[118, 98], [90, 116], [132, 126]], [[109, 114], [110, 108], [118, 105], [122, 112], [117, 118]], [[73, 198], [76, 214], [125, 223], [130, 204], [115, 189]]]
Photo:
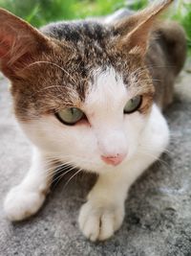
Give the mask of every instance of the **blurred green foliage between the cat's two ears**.
[[125, 3], [125, 0], [0, 0], [0, 7], [39, 27], [56, 20], [106, 15]]

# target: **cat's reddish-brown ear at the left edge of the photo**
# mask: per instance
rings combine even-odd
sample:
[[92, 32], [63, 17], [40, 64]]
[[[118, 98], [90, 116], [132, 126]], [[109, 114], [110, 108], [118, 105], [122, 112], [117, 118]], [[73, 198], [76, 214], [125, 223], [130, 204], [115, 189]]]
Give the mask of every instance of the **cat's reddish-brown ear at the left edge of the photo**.
[[5, 75], [13, 75], [48, 45], [48, 37], [11, 12], [0, 9], [0, 69]]

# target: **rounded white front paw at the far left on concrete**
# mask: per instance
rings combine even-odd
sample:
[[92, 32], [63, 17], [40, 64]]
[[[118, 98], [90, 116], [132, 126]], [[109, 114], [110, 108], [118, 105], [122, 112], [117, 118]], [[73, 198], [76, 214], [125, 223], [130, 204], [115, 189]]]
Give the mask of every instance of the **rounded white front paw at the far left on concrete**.
[[21, 185], [11, 189], [4, 202], [4, 211], [10, 221], [22, 221], [38, 211], [45, 199], [39, 192], [28, 191]]

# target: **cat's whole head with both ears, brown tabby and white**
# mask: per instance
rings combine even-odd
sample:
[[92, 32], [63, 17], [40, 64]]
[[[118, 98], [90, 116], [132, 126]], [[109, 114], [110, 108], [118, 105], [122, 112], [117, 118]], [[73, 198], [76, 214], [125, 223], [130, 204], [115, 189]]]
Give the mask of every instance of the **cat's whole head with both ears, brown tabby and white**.
[[0, 11], [0, 68], [34, 145], [96, 173], [136, 154], [154, 95], [144, 56], [170, 2], [114, 24], [57, 23], [41, 32]]

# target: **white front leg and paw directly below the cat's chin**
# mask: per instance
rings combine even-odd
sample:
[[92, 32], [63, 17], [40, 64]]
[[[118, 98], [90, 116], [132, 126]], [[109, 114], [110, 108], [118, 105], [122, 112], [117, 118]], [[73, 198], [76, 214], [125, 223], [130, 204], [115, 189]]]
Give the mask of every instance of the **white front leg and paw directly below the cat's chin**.
[[79, 227], [91, 241], [106, 240], [120, 227], [128, 184], [123, 175], [100, 175], [79, 213]]

